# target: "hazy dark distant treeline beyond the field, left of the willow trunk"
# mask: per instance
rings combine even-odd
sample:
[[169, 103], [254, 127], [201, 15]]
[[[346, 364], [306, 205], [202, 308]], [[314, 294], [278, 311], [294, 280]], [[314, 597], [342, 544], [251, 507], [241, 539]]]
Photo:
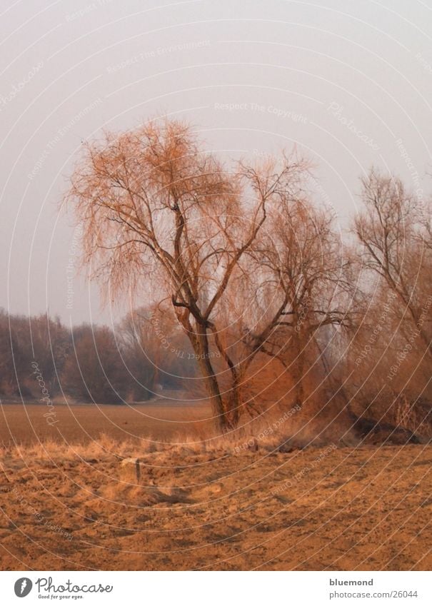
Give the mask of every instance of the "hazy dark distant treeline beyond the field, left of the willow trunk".
[[[40, 400], [64, 393], [79, 402], [123, 403], [179, 389], [185, 376], [196, 375], [196, 361], [186, 336], [175, 327], [166, 332], [166, 324], [163, 332], [159, 322], [146, 309], [114, 329], [68, 328], [44, 314], [0, 310], [0, 394]], [[167, 349], [174, 355], [167, 357]]]

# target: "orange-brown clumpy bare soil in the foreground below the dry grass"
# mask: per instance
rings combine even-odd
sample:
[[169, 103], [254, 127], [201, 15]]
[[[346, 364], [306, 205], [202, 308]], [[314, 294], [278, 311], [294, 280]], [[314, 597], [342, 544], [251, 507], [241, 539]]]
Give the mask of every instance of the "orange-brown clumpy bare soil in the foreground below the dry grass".
[[432, 567], [431, 445], [141, 461], [4, 454], [1, 569]]

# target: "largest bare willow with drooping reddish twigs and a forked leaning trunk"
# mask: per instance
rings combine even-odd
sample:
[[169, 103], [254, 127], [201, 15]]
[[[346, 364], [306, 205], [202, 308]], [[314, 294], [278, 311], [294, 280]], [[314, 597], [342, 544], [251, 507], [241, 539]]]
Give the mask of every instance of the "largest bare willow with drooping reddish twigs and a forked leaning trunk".
[[[140, 292], [149, 275], [169, 296], [206, 380], [218, 428], [236, 425], [241, 372], [228, 353], [219, 320], [229, 288], [246, 275], [246, 257], [259, 241], [268, 205], [296, 185], [303, 163], [261, 174], [241, 166], [227, 173], [201, 152], [189, 126], [156, 121], [91, 143], [72, 178], [69, 201], [84, 226], [84, 262], [111, 290]], [[162, 297], [162, 294], [161, 294]], [[256, 335], [258, 351], [273, 330]], [[221, 393], [211, 347], [231, 375]]]

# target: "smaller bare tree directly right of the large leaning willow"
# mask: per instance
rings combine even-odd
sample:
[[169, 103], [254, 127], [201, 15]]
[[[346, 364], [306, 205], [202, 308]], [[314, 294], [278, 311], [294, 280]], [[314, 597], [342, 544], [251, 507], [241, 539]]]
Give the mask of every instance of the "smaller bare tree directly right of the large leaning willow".
[[278, 196], [271, 216], [271, 244], [262, 251], [268, 268], [283, 293], [283, 310], [266, 351], [278, 355], [291, 373], [295, 401], [304, 400], [304, 375], [311, 370], [308, 355], [321, 356], [317, 343], [323, 328], [348, 328], [353, 293], [351, 254], [343, 249], [328, 208], [318, 209], [307, 196]]

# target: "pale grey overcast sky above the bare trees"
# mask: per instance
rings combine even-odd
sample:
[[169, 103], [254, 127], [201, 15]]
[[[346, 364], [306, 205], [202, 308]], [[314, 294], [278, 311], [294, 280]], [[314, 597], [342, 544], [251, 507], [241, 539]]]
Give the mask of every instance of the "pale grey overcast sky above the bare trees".
[[296, 144], [341, 226], [372, 163], [431, 190], [432, 0], [2, 0], [0, 29], [12, 313], [111, 323], [128, 306], [102, 309], [75, 276], [73, 217], [57, 212], [81, 141], [104, 128], [166, 113], [235, 158]]

